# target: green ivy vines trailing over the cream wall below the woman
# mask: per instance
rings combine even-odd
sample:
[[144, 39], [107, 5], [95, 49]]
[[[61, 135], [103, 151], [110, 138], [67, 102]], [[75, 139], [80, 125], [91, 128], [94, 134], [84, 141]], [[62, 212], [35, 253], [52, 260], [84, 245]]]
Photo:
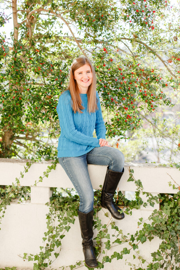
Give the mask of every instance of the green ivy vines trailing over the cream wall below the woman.
[[[51, 166], [48, 166], [47, 170], [43, 173], [43, 177], [48, 177], [52, 169], [55, 170], [56, 164], [52, 162]], [[21, 172], [23, 178], [24, 173], [28, 172], [30, 166], [35, 162], [32, 158], [31, 162], [26, 163], [24, 171]], [[180, 168], [179, 164], [176, 164], [176, 168]], [[109, 217], [109, 222], [104, 224], [99, 218], [99, 211], [102, 210], [104, 215], [108, 217], [108, 213], [104, 211], [104, 208], [100, 206], [101, 187], [99, 190], [94, 191], [94, 222], [93, 228], [97, 229], [97, 234], [94, 237], [95, 254], [97, 260], [100, 255], [103, 254], [101, 261], [98, 261], [98, 269], [104, 268], [104, 264], [111, 262], [113, 259], [122, 259], [125, 254], [132, 254], [133, 259], [138, 259], [138, 265], [133, 264], [132, 261], [126, 259], [126, 264], [130, 269], [134, 270], [178, 270], [180, 267], [180, 191], [179, 185], [169, 182], [169, 185], [173, 189], [177, 189], [176, 194], [158, 194], [152, 196], [150, 193], [143, 192], [143, 186], [140, 179], [135, 180], [133, 176], [134, 171], [129, 168], [129, 178], [127, 181], [134, 181], [137, 186], [135, 192], [135, 200], [128, 200], [125, 196], [118, 191], [114, 198], [116, 203], [120, 206], [120, 212], [123, 211], [127, 215], [132, 214], [133, 209], [140, 209], [141, 205], [146, 207], [148, 204], [154, 207], [155, 203], [160, 205], [159, 210], [154, 209], [147, 220], [139, 218], [138, 227], [141, 225], [141, 229], [137, 230], [134, 234], [128, 233], [127, 235], [117, 226], [116, 222]], [[22, 199], [30, 199], [30, 187], [21, 187], [19, 178], [16, 178], [15, 183], [12, 186], [6, 186], [1, 188], [1, 203], [0, 223], [4, 217], [6, 206], [9, 205], [14, 198], [19, 197], [19, 201]], [[38, 182], [43, 181], [43, 177], [39, 177]], [[23, 260], [34, 261], [33, 270], [43, 270], [50, 266], [60, 255], [62, 247], [62, 239], [66, 233], [69, 232], [71, 225], [74, 224], [75, 217], [77, 217], [77, 210], [79, 209], [79, 196], [72, 195], [72, 190], [61, 189], [59, 192], [57, 188], [51, 188], [53, 191], [50, 202], [46, 203], [49, 207], [49, 212], [46, 214], [47, 231], [42, 238], [43, 244], [40, 246], [38, 254], [24, 253]], [[147, 201], [143, 202], [139, 196], [140, 191], [147, 195]], [[65, 193], [65, 195], [64, 195]], [[110, 235], [108, 229], [113, 229], [114, 233]], [[146, 261], [140, 254], [139, 245], [146, 241], [152, 241], [154, 237], [158, 237], [161, 241], [157, 251], [151, 253], [151, 261]], [[113, 239], [113, 240], [112, 240]], [[123, 245], [126, 244], [126, 247]], [[127, 248], [127, 244], [129, 248]], [[108, 256], [108, 250], [114, 246], [118, 247], [118, 251], [115, 251], [112, 255]], [[119, 246], [122, 245], [122, 248]], [[137, 262], [137, 261], [136, 261]], [[69, 265], [70, 269], [76, 269], [83, 266], [84, 262], [78, 260], [76, 264]], [[66, 269], [67, 266], [60, 267], [61, 270]], [[2, 268], [0, 268], [2, 270]], [[8, 268], [5, 270], [16, 270], [16, 267]]]

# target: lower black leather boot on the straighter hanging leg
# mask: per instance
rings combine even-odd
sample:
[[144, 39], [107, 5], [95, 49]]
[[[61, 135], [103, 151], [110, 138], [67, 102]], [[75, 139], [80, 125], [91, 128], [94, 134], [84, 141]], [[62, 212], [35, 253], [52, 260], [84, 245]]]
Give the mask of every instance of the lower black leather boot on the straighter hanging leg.
[[89, 268], [97, 266], [97, 259], [93, 247], [93, 210], [85, 214], [78, 212], [79, 224], [81, 228], [81, 237], [83, 238], [82, 246], [85, 263]]

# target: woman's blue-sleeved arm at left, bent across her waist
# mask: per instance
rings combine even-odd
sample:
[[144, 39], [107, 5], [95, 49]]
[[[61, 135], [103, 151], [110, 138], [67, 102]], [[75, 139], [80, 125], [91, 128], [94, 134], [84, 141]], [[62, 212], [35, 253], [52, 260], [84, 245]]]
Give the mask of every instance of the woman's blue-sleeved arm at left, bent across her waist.
[[99, 140], [97, 138], [87, 136], [80, 131], [77, 131], [75, 128], [70, 96], [60, 96], [57, 104], [57, 113], [59, 116], [60, 127], [62, 127], [67, 139], [83, 145], [100, 147]]

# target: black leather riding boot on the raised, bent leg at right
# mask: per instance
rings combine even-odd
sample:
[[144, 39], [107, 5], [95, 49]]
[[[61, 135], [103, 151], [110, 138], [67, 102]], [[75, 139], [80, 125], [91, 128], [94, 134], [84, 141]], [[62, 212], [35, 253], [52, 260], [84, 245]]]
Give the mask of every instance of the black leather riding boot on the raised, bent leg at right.
[[114, 203], [113, 197], [114, 192], [117, 188], [117, 185], [121, 179], [121, 176], [124, 173], [124, 168], [122, 172], [112, 171], [107, 169], [106, 176], [104, 179], [103, 190], [101, 193], [101, 206], [107, 208], [113, 218], [121, 220], [124, 218], [124, 213], [118, 212], [120, 208]]

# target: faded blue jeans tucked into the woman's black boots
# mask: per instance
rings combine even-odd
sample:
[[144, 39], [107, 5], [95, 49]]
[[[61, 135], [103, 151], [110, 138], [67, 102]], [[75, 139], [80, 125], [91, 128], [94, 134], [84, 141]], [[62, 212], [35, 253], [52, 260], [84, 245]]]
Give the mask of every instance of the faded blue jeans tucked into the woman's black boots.
[[58, 160], [79, 194], [79, 211], [83, 213], [93, 210], [94, 203], [94, 192], [87, 163], [107, 165], [108, 169], [119, 172], [123, 170], [124, 166], [123, 153], [108, 146], [95, 147], [79, 157], [59, 157]]

